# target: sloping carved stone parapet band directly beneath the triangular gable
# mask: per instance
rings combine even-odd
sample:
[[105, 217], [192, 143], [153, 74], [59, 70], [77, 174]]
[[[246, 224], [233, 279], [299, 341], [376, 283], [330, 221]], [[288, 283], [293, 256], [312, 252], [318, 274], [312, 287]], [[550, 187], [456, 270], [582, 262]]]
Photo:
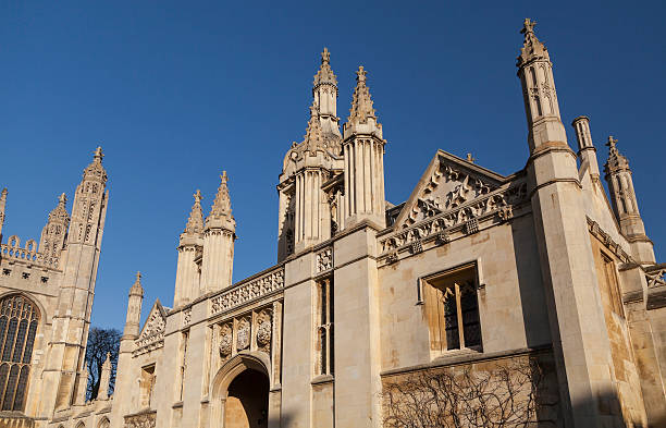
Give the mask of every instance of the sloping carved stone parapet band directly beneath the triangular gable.
[[[455, 174], [455, 171], [452, 170], [451, 173]], [[465, 233], [474, 233], [479, 229], [480, 220], [495, 217], [499, 221], [506, 221], [513, 217], [514, 207], [525, 201], [527, 201], [525, 181], [511, 183], [507, 187], [497, 188], [460, 207], [425, 217], [410, 227], [386, 235], [380, 240], [382, 254], [390, 262], [394, 255], [397, 257], [394, 252], [405, 247], [412, 250], [411, 245], [417, 241], [423, 243], [423, 240], [434, 239], [437, 244], [447, 243], [451, 241], [452, 229], [462, 229]]]

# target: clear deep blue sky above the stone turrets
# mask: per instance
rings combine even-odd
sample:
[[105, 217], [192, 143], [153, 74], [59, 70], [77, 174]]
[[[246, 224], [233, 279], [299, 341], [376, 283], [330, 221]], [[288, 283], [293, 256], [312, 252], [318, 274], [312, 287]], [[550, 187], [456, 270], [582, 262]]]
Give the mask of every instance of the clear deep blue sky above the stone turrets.
[[222, 169], [238, 223], [234, 280], [273, 265], [274, 186], [305, 134], [324, 46], [342, 121], [355, 70], [369, 71], [391, 201], [407, 198], [437, 148], [471, 151], [503, 174], [520, 170], [528, 145], [515, 59], [529, 16], [555, 65], [569, 144], [580, 114], [591, 119], [600, 163], [607, 136], [618, 138], [663, 255], [664, 2], [467, 3], [3, 2], [5, 236], [38, 239], [57, 195], [72, 195], [101, 144], [111, 195], [94, 325], [122, 328], [137, 270], [144, 315], [156, 297], [171, 306], [192, 194], [201, 189], [208, 213]]

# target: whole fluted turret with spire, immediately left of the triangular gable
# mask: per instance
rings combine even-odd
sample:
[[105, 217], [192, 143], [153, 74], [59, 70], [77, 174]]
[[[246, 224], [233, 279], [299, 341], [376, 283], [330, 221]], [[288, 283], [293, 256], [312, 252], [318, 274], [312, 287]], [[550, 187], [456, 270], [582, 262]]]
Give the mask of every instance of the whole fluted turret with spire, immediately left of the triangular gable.
[[382, 125], [366, 84], [362, 66], [356, 72], [356, 89], [344, 125], [343, 152], [345, 157], [345, 225], [363, 219], [385, 225], [384, 145]]

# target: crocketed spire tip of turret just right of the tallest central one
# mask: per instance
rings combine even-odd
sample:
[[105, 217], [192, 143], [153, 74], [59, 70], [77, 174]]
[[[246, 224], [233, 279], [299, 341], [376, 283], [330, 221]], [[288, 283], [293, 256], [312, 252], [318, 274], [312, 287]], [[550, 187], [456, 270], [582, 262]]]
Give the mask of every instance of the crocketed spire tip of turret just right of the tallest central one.
[[373, 134], [382, 138], [382, 125], [377, 122], [370, 88], [366, 84], [367, 74], [368, 72], [362, 65], [356, 72], [356, 88], [354, 89], [349, 118], [344, 125], [345, 139], [353, 134]]

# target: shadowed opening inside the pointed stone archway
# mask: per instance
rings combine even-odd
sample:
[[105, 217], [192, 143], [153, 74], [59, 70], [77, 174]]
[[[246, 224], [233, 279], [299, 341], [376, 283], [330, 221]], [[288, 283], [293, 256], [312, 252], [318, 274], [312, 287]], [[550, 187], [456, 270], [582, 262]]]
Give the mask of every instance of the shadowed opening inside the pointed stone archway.
[[224, 428], [268, 427], [269, 379], [246, 369], [229, 384], [224, 405]]

